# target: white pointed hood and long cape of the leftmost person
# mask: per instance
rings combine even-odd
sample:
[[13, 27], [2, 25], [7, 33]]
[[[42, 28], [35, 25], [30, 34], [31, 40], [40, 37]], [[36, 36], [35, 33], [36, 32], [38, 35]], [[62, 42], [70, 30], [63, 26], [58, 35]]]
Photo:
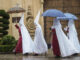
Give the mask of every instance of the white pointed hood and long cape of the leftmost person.
[[20, 24], [21, 35], [22, 35], [23, 54], [33, 53], [34, 43], [30, 37], [30, 34], [29, 34], [27, 28], [24, 25], [24, 14], [22, 14], [19, 24]]

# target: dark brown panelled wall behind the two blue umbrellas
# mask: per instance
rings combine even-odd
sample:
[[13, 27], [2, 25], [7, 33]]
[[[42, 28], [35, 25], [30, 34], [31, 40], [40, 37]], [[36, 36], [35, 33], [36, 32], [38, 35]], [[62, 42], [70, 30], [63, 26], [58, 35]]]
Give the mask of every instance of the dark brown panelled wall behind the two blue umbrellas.
[[[78, 17], [78, 20], [75, 21], [75, 25], [80, 40], [80, 0], [44, 0], [43, 11], [47, 9], [59, 9], [63, 12], [69, 12], [75, 14]], [[67, 22], [68, 21], [61, 21], [63, 28], [67, 25]], [[50, 43], [51, 41], [50, 27], [52, 26], [52, 24], [53, 24], [53, 18], [50, 17], [44, 18], [44, 36], [48, 43]]]

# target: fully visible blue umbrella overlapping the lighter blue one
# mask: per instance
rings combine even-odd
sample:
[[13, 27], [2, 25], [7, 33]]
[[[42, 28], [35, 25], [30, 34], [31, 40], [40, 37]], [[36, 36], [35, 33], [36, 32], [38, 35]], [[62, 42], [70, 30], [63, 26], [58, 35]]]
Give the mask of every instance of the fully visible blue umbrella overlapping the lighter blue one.
[[64, 13], [57, 9], [48, 9], [46, 10], [42, 16], [48, 16], [48, 17], [65, 17]]

